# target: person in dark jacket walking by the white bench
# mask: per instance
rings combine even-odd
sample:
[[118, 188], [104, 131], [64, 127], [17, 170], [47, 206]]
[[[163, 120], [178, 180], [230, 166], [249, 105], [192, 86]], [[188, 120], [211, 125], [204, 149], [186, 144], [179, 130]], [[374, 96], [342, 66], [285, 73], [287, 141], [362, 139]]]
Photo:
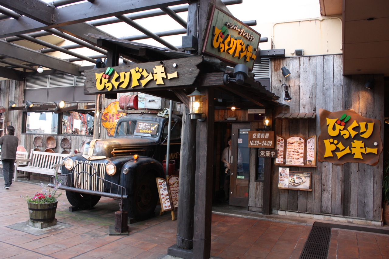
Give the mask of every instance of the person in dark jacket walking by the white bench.
[[16, 149], [18, 149], [18, 137], [15, 137], [15, 128], [7, 126], [7, 135], [0, 138], [1, 161], [3, 163], [4, 189], [9, 189], [14, 178], [14, 163]]

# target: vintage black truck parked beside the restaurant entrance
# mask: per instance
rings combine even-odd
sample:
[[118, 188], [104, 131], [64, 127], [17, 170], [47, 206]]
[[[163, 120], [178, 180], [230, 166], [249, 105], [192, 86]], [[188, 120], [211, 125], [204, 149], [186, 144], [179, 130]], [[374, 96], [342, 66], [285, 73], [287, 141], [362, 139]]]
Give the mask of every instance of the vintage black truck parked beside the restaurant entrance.
[[[129, 217], [154, 216], [156, 177], [165, 177], [168, 119], [157, 114], [127, 114], [116, 124], [114, 138], [95, 139], [61, 166], [68, 201], [79, 209], [94, 207], [101, 196], [123, 199]], [[172, 115], [170, 158], [179, 166], [181, 118]], [[53, 186], [53, 184], [49, 185]]]

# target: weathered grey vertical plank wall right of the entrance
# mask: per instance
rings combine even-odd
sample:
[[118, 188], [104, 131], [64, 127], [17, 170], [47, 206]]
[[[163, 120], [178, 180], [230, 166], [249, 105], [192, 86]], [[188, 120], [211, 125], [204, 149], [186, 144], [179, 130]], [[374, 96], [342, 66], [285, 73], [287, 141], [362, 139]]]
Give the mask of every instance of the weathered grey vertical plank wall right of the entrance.
[[[283, 98], [281, 84], [290, 84], [289, 93], [293, 98], [287, 103], [290, 108], [276, 108], [273, 117], [279, 112], [317, 112], [316, 120], [274, 120], [276, 134], [286, 138], [291, 135], [319, 136], [319, 108], [329, 111], [354, 109], [364, 117], [381, 121], [383, 140], [384, 75], [343, 76], [342, 55], [277, 58], [271, 62], [270, 91]], [[290, 70], [289, 78], [282, 77], [282, 66]], [[375, 79], [373, 90], [364, 87], [371, 77]], [[278, 189], [279, 166], [273, 165], [272, 209], [380, 220], [383, 153], [376, 166], [363, 163], [335, 166], [317, 162], [317, 168], [290, 168], [312, 172], [312, 192]]]

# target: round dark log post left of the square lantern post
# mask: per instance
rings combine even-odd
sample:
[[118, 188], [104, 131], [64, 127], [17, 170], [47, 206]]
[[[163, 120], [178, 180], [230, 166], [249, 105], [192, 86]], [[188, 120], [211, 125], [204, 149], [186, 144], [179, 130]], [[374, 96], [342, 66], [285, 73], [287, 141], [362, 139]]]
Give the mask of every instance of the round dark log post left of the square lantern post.
[[182, 249], [193, 248], [193, 241], [189, 240], [193, 239], [195, 210], [196, 121], [191, 119], [189, 108], [185, 106], [182, 115], [177, 222], [177, 247]]

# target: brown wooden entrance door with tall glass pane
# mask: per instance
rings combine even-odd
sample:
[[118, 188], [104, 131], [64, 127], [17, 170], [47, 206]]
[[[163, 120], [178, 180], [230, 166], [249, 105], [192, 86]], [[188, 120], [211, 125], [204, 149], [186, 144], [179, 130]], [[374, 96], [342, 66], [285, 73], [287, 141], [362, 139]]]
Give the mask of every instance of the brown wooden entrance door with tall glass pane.
[[249, 202], [250, 123], [232, 123], [230, 205], [247, 207]]

